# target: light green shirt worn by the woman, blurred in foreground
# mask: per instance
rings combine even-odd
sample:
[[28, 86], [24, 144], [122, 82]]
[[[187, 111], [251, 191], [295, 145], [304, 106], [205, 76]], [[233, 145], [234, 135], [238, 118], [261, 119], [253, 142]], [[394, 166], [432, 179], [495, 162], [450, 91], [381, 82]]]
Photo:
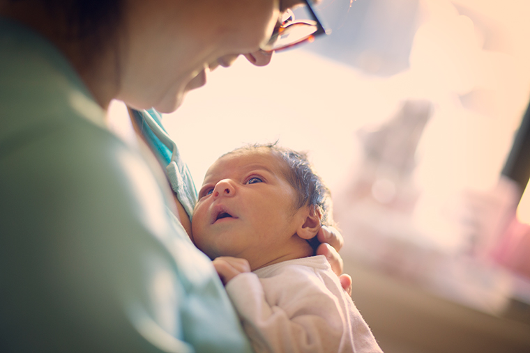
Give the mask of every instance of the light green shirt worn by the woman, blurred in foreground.
[[0, 352], [250, 352], [169, 188], [49, 42], [0, 19]]

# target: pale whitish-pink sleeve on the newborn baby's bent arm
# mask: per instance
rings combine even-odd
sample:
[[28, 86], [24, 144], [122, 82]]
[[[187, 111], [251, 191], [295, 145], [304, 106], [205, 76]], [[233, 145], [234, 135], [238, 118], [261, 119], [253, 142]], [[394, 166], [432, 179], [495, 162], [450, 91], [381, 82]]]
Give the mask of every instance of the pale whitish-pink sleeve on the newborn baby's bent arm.
[[226, 286], [256, 352], [339, 352], [345, 348], [341, 337], [348, 314], [342, 313], [338, 299], [321, 281], [296, 273], [275, 277], [266, 285], [264, 290], [256, 274], [244, 273]]

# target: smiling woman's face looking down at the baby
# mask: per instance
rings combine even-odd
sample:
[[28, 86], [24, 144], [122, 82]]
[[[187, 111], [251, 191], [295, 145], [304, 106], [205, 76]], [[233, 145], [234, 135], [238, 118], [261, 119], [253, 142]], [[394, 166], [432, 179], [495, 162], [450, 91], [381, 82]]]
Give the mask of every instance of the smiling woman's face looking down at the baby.
[[187, 91], [205, 84], [212, 63], [258, 52], [279, 13], [278, 0], [128, 1], [117, 98], [174, 111]]

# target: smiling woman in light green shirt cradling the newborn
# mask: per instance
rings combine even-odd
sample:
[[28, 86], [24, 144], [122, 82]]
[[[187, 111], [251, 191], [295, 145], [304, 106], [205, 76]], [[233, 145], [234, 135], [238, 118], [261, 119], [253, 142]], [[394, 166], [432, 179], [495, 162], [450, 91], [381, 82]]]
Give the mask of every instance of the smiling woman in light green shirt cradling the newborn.
[[105, 110], [176, 109], [210, 66], [259, 53], [279, 13], [0, 1], [1, 352], [250, 351], [153, 154], [109, 132]]

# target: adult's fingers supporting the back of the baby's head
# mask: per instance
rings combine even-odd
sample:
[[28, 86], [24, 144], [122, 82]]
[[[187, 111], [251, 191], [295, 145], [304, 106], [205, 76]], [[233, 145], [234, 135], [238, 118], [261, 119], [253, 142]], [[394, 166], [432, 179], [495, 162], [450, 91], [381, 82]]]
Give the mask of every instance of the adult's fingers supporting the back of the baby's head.
[[349, 274], [342, 274], [344, 263], [338, 251], [344, 244], [344, 238], [338, 230], [333, 227], [321, 226], [317, 239], [322, 244], [317, 248], [317, 255], [324, 255], [328, 259], [333, 272], [339, 276], [340, 285], [351, 295], [351, 276]]

